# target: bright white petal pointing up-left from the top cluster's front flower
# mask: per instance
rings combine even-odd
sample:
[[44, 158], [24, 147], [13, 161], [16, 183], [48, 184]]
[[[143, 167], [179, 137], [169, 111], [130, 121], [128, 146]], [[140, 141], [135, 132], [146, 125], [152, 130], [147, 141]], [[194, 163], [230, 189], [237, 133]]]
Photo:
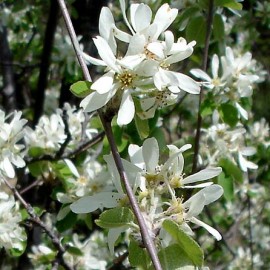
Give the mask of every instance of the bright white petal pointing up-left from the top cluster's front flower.
[[93, 39], [93, 41], [97, 47], [98, 54], [101, 59], [107, 64], [108, 67], [120, 73], [121, 70], [115, 63], [116, 58], [106, 40], [102, 37], [97, 36]]

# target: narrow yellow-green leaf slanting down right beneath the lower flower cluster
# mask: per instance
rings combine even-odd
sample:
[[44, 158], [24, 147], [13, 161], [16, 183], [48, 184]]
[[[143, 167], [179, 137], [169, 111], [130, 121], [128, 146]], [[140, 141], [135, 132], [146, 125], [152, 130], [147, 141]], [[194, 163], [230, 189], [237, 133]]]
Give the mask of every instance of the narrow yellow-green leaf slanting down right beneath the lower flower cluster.
[[190, 260], [195, 266], [201, 267], [203, 265], [203, 251], [200, 246], [175, 222], [165, 220], [162, 226], [186, 253], [187, 260]]

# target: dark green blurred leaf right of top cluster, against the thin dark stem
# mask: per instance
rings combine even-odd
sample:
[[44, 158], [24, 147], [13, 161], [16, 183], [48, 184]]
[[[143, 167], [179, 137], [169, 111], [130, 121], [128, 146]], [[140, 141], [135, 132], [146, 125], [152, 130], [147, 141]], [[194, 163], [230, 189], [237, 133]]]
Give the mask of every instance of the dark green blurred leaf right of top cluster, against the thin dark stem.
[[188, 41], [196, 40], [197, 45], [201, 46], [205, 42], [206, 21], [203, 16], [195, 17], [190, 20], [186, 28]]

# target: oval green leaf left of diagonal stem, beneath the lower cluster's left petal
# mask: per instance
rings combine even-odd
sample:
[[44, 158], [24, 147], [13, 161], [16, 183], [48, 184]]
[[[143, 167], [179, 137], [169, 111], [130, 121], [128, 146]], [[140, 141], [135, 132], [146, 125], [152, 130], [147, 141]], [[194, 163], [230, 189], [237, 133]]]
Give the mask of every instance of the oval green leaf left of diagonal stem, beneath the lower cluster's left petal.
[[95, 223], [101, 228], [116, 228], [129, 224], [134, 220], [132, 211], [127, 207], [116, 207], [104, 211]]

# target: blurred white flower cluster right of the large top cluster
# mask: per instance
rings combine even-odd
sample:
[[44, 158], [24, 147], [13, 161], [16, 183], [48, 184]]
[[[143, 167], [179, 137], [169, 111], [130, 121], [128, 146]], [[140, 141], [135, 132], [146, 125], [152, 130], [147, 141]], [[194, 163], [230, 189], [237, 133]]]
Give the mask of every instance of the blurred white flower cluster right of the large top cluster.
[[200, 69], [192, 69], [191, 73], [204, 81], [204, 86], [213, 91], [218, 103], [233, 102], [239, 115], [247, 120], [248, 112], [241, 105], [241, 98], [250, 97], [254, 84], [262, 80], [257, 75], [257, 62], [252, 60], [251, 53], [236, 56], [234, 51], [227, 47], [226, 54], [220, 60], [216, 54], [213, 56], [211, 71], [212, 77]]

